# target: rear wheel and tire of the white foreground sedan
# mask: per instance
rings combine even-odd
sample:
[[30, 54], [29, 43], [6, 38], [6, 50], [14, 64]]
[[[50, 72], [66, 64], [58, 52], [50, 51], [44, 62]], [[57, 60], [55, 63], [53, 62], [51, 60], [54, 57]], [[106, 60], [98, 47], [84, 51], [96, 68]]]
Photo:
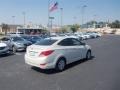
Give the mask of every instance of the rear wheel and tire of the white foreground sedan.
[[56, 67], [55, 69], [59, 72], [62, 72], [64, 69], [65, 69], [65, 66], [66, 66], [66, 60], [65, 58], [60, 58], [58, 61], [57, 61], [57, 64], [56, 64]]

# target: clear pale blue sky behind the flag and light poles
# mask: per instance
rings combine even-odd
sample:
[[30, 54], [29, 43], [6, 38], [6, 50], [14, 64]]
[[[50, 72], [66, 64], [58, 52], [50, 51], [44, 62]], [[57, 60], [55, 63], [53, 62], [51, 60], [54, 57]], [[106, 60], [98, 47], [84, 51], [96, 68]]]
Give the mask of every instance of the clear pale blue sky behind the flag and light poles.
[[[120, 0], [50, 0], [58, 1], [63, 8], [63, 24], [81, 23], [82, 6], [84, 8], [84, 23], [90, 20], [114, 21], [120, 20]], [[23, 24], [23, 14], [26, 12], [26, 23], [43, 24], [48, 22], [48, 0], [0, 0], [0, 23]], [[60, 25], [60, 9], [51, 13], [55, 17], [53, 23]]]

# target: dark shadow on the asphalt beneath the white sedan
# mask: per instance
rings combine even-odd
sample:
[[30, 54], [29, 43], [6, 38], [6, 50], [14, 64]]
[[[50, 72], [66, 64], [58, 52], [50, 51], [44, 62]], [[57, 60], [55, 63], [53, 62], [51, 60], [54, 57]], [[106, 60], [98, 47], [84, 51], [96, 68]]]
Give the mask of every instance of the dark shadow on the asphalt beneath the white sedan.
[[[94, 58], [95, 58], [95, 56], [92, 56], [90, 60], [93, 60]], [[66, 71], [66, 70], [68, 70], [70, 68], [73, 68], [73, 67], [75, 67], [75, 66], [77, 66], [79, 64], [82, 64], [82, 63], [84, 63], [86, 61], [89, 61], [89, 60], [82, 59], [82, 60], [73, 62], [71, 64], [68, 64], [68, 65], [66, 65], [66, 68], [65, 68], [64, 71]], [[39, 73], [44, 73], [44, 74], [57, 74], [57, 73], [60, 73], [60, 72], [56, 71], [55, 69], [46, 69], [46, 70], [43, 70], [43, 69], [40, 69], [40, 68], [34, 67], [34, 66], [32, 66], [31, 69], [33, 69], [33, 70], [35, 70], [35, 71], [37, 71]]]

